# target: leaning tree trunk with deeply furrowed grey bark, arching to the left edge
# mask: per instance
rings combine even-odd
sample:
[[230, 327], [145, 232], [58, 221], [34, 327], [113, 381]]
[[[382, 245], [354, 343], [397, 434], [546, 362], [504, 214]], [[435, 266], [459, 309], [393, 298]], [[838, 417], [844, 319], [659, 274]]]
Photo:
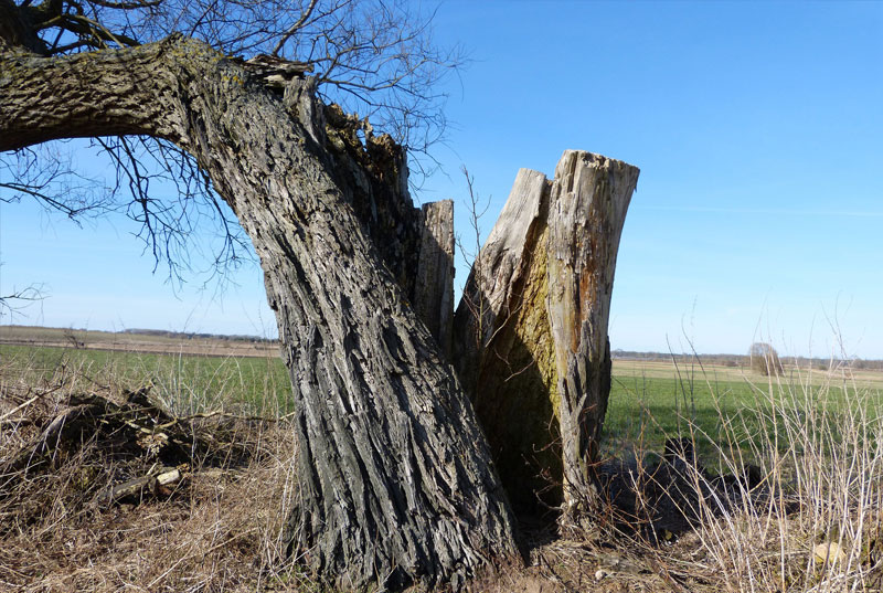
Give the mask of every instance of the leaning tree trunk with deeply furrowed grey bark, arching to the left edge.
[[343, 585], [456, 584], [518, 553], [511, 512], [471, 405], [396, 283], [419, 266], [407, 246], [423, 232], [379, 243], [389, 220], [369, 214], [416, 220], [375, 193], [406, 193], [404, 161], [383, 137], [351, 158], [340, 114], [326, 126], [312, 91], [296, 80], [279, 97], [180, 36], [0, 53], [0, 150], [138, 134], [194, 155], [252, 239], [277, 315], [299, 447], [292, 553]]

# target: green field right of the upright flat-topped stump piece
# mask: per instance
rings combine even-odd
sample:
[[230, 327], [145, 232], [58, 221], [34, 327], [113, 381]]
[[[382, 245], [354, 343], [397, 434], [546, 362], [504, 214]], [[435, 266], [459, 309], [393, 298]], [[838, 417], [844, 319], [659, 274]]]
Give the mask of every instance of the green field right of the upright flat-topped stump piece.
[[769, 378], [732, 367], [616, 361], [613, 374], [604, 425], [610, 454], [631, 447], [659, 452], [668, 437], [695, 435], [701, 456], [712, 457], [721, 447], [751, 458], [752, 443], [790, 445], [777, 440], [785, 432], [779, 424], [785, 409], [801, 414], [823, 407], [832, 422], [850, 406], [872, 416], [883, 412], [880, 374], [844, 368], [786, 368], [784, 375]]

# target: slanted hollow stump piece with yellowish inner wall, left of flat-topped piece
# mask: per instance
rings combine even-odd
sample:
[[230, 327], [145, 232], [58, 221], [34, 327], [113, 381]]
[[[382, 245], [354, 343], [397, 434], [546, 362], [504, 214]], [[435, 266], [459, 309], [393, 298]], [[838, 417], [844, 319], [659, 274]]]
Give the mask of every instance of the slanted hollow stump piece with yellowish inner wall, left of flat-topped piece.
[[545, 314], [551, 183], [521, 169], [472, 266], [455, 319], [454, 362], [520, 510], [560, 500], [556, 374]]

